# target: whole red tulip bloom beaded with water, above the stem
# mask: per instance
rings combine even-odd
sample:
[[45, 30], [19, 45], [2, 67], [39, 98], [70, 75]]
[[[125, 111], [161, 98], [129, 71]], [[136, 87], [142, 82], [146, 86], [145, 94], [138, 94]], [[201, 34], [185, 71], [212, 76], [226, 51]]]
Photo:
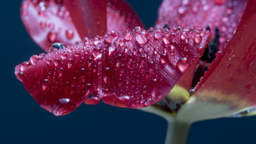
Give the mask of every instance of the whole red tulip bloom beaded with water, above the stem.
[[[171, 112], [175, 121], [187, 125], [245, 114], [254, 110], [256, 70], [256, 3], [249, 0], [247, 7], [246, 3], [164, 0], [157, 28], [146, 31], [133, 30], [142, 24], [123, 1], [26, 0], [22, 20], [34, 41], [50, 50], [17, 66], [15, 74], [35, 100], [55, 115], [101, 99], [113, 106]], [[165, 25], [197, 28], [159, 29]], [[210, 31], [198, 29], [207, 26]], [[95, 37], [106, 30], [110, 30], [106, 35]], [[190, 92], [210, 33], [211, 42], [217, 38], [218, 54]], [[82, 39], [85, 36], [93, 39]], [[57, 50], [53, 42], [68, 48]], [[162, 98], [164, 102], [158, 102]]]

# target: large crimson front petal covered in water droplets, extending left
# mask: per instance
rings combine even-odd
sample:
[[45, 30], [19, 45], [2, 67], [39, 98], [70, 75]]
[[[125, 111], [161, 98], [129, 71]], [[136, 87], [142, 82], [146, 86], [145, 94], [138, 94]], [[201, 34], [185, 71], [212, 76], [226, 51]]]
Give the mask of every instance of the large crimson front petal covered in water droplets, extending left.
[[90, 104], [102, 99], [113, 106], [150, 106], [200, 57], [197, 48], [206, 46], [210, 35], [206, 32], [195, 42], [201, 33], [139, 27], [126, 34], [110, 31], [105, 37], [32, 56], [15, 74], [35, 100], [56, 115], [74, 110], [92, 93], [86, 100]]

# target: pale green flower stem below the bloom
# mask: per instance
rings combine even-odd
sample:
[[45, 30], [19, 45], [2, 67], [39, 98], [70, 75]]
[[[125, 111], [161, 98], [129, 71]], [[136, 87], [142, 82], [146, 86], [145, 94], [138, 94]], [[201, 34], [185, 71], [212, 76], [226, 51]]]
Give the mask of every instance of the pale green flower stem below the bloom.
[[167, 121], [166, 144], [186, 144], [190, 124], [178, 120]]

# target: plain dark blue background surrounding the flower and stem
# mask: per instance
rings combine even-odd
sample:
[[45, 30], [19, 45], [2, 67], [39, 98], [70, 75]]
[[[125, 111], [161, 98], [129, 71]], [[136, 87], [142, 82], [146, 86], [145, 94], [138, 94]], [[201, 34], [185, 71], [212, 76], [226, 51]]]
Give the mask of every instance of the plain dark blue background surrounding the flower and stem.
[[[43, 51], [22, 25], [20, 0], [2, 1], [1, 14], [1, 101], [0, 143], [112, 143], [161, 144], [166, 121], [140, 110], [99, 104], [82, 105], [73, 113], [54, 117], [34, 101], [14, 76], [14, 66]], [[129, 1], [146, 26], [153, 26], [160, 1]], [[188, 144], [256, 143], [256, 117], [222, 118], [197, 122], [191, 127]]]

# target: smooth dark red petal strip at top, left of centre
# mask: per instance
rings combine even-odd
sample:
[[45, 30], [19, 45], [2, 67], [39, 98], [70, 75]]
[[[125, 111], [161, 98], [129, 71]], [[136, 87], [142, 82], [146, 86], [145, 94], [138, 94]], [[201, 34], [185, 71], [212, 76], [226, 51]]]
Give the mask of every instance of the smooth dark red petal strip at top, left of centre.
[[106, 0], [64, 0], [81, 38], [106, 33]]

